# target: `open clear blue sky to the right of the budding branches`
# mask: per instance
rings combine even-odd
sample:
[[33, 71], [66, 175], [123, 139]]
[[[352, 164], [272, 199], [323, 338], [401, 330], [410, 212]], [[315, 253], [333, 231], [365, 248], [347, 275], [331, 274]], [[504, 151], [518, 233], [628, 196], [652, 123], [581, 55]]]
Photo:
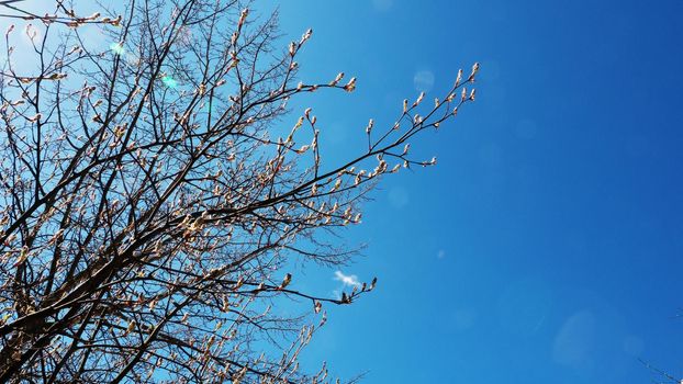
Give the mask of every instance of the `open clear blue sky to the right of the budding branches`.
[[[477, 102], [415, 143], [439, 165], [388, 178], [344, 234], [368, 248], [343, 272], [380, 283], [329, 309], [307, 361], [366, 383], [649, 383], [638, 358], [683, 373], [683, 2], [280, 11], [290, 36], [314, 29], [304, 80], [359, 79], [311, 102], [331, 157], [482, 64]], [[340, 284], [313, 269], [295, 283]]]

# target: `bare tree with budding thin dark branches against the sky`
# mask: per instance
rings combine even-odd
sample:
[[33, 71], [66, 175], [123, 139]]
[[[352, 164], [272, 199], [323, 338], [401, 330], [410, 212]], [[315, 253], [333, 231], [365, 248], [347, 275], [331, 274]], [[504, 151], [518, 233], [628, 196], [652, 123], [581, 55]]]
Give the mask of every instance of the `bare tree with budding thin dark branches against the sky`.
[[[393, 126], [370, 121], [367, 148], [333, 165], [311, 109], [283, 127], [293, 98], [356, 88], [299, 81], [311, 30], [280, 48], [277, 14], [235, 0], [3, 5], [25, 26], [7, 31], [0, 75], [0, 382], [325, 382], [296, 363], [311, 317], [376, 281], [323, 297], [284, 268], [352, 256], [318, 235], [360, 223], [384, 174], [436, 162], [408, 142], [474, 100], [479, 66], [429, 108], [405, 100]], [[88, 29], [114, 43], [89, 46]], [[288, 300], [313, 309], [279, 313]]]

